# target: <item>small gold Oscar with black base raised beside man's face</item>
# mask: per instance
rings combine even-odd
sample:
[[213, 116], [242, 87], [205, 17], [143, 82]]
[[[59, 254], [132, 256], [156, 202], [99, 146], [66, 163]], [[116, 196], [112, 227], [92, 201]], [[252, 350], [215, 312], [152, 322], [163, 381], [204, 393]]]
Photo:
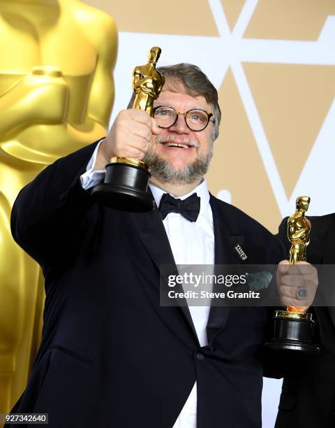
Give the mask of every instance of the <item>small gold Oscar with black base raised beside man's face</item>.
[[[133, 108], [144, 110], [150, 116], [154, 100], [164, 85], [164, 76], [156, 70], [160, 55], [161, 48], [151, 48], [148, 64], [136, 66], [133, 73]], [[121, 211], [152, 211], [154, 200], [147, 192], [149, 178], [149, 166], [139, 159], [112, 157], [106, 165], [105, 182], [96, 185], [92, 195], [99, 202]]]

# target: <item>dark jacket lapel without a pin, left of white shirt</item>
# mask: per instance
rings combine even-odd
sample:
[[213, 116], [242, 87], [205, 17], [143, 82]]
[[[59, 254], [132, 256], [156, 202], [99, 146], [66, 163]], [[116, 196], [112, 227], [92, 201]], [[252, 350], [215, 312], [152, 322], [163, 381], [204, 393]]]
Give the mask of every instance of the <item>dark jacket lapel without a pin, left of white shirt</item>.
[[[154, 211], [151, 211], [151, 213], [130, 213], [130, 215], [137, 234], [140, 236], [154, 264], [156, 264], [158, 271], [161, 272], [162, 266], [170, 265], [173, 266], [173, 271], [171, 271], [170, 274], [178, 275], [168, 236], [156, 204]], [[174, 287], [174, 290], [176, 292], [183, 291], [181, 285]], [[151, 299], [151, 303], [154, 308], [157, 308], [159, 304], [159, 287], [155, 287], [155, 290], [149, 291], [148, 295]], [[178, 307], [159, 306], [158, 315], [163, 318], [165, 323], [168, 324], [168, 327], [170, 327], [174, 334], [179, 336], [184, 343], [190, 345], [189, 336], [191, 332], [193, 342], [195, 341], [195, 343], [199, 345], [198, 336], [187, 306], [187, 301], [186, 299], [178, 299], [178, 303]], [[181, 324], [185, 324], [185, 320], [186, 329], [182, 329]]]

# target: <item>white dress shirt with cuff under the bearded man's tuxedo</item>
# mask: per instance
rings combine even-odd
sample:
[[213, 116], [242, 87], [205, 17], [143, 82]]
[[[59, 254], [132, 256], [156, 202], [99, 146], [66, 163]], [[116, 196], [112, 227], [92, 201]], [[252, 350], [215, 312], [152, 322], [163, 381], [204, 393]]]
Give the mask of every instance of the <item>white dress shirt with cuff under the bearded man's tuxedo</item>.
[[[96, 162], [97, 152], [98, 146], [87, 165], [86, 173], [82, 174], [80, 177], [82, 187], [84, 187], [85, 190], [100, 183], [105, 175], [105, 171], [92, 171]], [[151, 183], [149, 186], [154, 195], [156, 205], [159, 206], [161, 197], [165, 192]], [[203, 180], [192, 192], [179, 197], [179, 199], [186, 199], [193, 193], [196, 193], [198, 197], [200, 197], [200, 213], [197, 221], [190, 222], [178, 213], [169, 213], [163, 220], [163, 224], [176, 264], [209, 264], [212, 266], [214, 265], [214, 229], [206, 181]], [[207, 345], [206, 326], [209, 306], [189, 306], [189, 310], [200, 346], [205, 346]], [[172, 428], [196, 427], [197, 383], [195, 382]]]

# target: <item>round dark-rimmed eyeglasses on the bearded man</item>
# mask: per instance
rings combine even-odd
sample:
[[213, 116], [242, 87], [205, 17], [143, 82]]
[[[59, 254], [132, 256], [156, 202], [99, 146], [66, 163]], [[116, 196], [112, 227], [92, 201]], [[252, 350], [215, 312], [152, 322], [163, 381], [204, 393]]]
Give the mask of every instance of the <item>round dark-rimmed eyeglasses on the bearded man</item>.
[[188, 110], [185, 113], [180, 113], [179, 111], [174, 110], [173, 107], [166, 106], [157, 106], [154, 108], [154, 119], [156, 120], [158, 127], [160, 128], [170, 128], [178, 120], [179, 115], [183, 115], [186, 126], [191, 129], [191, 131], [203, 131], [204, 128], [209, 124], [209, 120], [214, 115], [208, 111], [201, 110], [199, 108], [193, 108]]

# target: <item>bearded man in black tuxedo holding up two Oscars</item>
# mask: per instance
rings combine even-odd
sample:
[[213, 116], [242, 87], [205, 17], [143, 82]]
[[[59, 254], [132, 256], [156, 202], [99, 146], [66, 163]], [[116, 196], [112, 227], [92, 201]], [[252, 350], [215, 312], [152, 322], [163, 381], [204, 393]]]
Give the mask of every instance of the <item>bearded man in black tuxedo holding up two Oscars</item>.
[[[221, 112], [207, 76], [191, 64], [158, 70], [154, 118], [122, 110], [103, 141], [59, 159], [15, 203], [13, 236], [43, 266], [46, 302], [38, 358], [13, 411], [49, 413], [52, 428], [261, 427], [269, 311], [160, 306], [159, 267], [277, 264], [285, 251], [209, 194]], [[154, 211], [91, 197], [116, 156], [151, 166]], [[295, 298], [301, 282], [306, 301]], [[283, 304], [310, 306], [316, 283], [313, 267], [306, 280], [279, 265]]]

